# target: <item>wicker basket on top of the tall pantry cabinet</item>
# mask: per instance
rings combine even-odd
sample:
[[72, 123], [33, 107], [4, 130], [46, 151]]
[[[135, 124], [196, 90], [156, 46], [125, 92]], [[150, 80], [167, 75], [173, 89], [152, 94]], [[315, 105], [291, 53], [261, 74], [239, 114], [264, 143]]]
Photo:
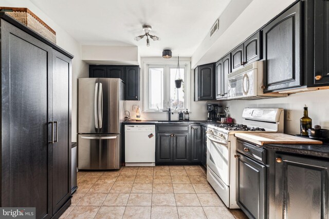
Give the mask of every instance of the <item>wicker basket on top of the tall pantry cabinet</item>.
[[44, 36], [50, 42], [56, 44], [56, 32], [29, 9], [0, 7], [0, 12], [5, 12], [25, 26]]

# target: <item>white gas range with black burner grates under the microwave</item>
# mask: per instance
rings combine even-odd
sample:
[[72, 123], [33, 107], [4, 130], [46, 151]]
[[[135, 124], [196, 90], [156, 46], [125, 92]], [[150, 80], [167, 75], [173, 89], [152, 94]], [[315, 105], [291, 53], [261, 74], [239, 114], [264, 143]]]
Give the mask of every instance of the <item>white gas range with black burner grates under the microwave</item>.
[[236, 132], [283, 132], [282, 108], [245, 108], [243, 124], [208, 125], [207, 180], [228, 208], [236, 204]]

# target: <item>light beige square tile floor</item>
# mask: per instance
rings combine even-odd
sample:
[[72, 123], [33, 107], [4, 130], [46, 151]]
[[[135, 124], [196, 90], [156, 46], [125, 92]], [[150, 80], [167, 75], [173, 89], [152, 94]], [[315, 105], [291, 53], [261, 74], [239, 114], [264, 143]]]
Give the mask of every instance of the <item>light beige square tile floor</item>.
[[201, 166], [122, 167], [79, 171], [78, 190], [60, 218], [231, 218]]

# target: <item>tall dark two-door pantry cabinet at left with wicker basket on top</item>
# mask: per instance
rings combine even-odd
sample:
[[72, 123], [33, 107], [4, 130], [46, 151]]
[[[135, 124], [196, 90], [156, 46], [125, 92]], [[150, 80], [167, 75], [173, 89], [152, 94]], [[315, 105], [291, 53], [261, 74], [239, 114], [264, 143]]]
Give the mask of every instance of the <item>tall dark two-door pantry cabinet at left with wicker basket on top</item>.
[[58, 218], [71, 203], [72, 55], [0, 13], [1, 207]]

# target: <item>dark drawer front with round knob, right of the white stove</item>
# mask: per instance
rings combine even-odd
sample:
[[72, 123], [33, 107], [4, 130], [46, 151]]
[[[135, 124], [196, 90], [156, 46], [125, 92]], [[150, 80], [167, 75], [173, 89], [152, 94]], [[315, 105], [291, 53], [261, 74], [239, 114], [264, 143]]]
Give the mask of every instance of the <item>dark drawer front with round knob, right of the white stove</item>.
[[264, 148], [237, 140], [236, 150], [262, 163], [266, 163], [266, 151]]

